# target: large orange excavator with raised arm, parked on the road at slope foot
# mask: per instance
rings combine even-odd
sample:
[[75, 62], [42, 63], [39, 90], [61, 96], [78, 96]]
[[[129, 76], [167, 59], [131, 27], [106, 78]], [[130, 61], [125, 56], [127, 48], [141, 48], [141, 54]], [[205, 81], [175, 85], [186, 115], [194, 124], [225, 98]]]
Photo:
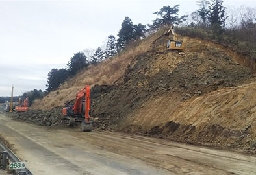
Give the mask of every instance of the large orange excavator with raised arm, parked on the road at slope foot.
[[77, 93], [75, 104], [66, 104], [63, 108], [62, 122], [69, 126], [75, 125], [76, 122], [81, 122], [81, 131], [92, 130], [92, 117], [90, 113], [90, 86], [86, 85]]

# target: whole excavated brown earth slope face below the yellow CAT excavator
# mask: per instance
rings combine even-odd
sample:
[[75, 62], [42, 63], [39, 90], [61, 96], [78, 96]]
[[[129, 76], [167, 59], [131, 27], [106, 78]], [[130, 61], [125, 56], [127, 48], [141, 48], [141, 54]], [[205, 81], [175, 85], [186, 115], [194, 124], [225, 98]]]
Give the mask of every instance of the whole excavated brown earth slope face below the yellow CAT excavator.
[[[255, 85], [242, 85], [252, 81], [250, 69], [214, 44], [183, 40], [186, 51], [178, 53], [163, 51], [160, 38], [151, 51], [133, 59], [114, 86], [94, 88], [92, 114], [99, 117], [98, 126], [204, 145], [244, 149], [253, 145], [252, 130], [248, 143], [241, 137], [246, 137], [242, 135], [249, 132], [254, 118], [245, 122], [236, 115], [251, 110], [254, 102], [251, 99], [249, 105], [240, 99], [246, 92], [244, 86]], [[236, 101], [243, 107], [231, 105]], [[231, 112], [231, 107], [236, 110]]]

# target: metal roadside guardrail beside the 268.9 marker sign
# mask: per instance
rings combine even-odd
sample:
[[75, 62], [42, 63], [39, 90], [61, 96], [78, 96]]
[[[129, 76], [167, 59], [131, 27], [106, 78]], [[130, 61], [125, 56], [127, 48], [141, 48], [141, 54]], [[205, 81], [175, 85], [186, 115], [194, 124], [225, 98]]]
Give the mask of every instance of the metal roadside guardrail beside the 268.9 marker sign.
[[[0, 165], [3, 170], [6, 169], [8, 161], [10, 162], [21, 162], [20, 159], [0, 141]], [[27, 169], [17, 169], [16, 174], [18, 175], [32, 175], [32, 173]]]

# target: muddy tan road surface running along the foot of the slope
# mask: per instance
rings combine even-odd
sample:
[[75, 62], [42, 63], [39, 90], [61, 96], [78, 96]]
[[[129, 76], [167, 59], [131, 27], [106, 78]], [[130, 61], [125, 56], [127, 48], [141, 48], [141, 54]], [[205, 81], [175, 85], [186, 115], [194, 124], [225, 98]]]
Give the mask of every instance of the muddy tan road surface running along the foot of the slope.
[[123, 133], [14, 121], [0, 134], [34, 174], [256, 174], [256, 157]]

